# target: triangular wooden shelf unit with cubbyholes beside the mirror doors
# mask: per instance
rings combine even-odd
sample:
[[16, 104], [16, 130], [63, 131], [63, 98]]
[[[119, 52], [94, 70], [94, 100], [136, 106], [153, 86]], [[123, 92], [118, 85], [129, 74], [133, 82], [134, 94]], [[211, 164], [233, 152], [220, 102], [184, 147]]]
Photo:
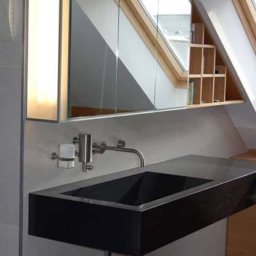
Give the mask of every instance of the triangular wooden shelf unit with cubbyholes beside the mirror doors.
[[[244, 103], [243, 96], [226, 67], [196, 7], [192, 7], [194, 36], [190, 44], [188, 108]], [[193, 92], [191, 92], [193, 91]], [[191, 95], [193, 94], [193, 96]], [[191, 99], [192, 98], [192, 99]]]

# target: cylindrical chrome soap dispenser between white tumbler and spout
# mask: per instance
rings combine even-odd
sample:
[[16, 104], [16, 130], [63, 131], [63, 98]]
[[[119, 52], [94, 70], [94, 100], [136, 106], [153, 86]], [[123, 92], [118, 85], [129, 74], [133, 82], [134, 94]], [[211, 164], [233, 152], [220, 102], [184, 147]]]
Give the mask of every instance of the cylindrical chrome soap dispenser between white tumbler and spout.
[[83, 171], [93, 170], [92, 165], [88, 163], [92, 162], [92, 134], [79, 134], [79, 137], [73, 139], [73, 144], [79, 144], [79, 152], [76, 152], [75, 155], [78, 156], [79, 162], [83, 165]]

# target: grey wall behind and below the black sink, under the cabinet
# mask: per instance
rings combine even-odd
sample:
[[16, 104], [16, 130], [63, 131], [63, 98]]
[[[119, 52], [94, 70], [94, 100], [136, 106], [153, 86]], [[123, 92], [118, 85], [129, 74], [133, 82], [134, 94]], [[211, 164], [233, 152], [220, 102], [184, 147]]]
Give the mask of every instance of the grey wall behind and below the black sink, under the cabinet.
[[[186, 154], [212, 157], [231, 157], [246, 149], [225, 108], [179, 110], [151, 115], [115, 117], [61, 125], [51, 123], [25, 123], [25, 176], [24, 176], [24, 234], [25, 256], [103, 256], [104, 252], [57, 241], [28, 236], [28, 193], [64, 183], [101, 176], [139, 165], [129, 154], [106, 152], [94, 157], [94, 171], [81, 173], [75, 169], [56, 168], [50, 160], [58, 145], [70, 143], [78, 133], [93, 133], [94, 141], [107, 141], [115, 145], [125, 139], [127, 146], [140, 149], [146, 163], [168, 160]], [[170, 231], [171, 232], [171, 231]], [[176, 241], [149, 255], [224, 256], [226, 250], [226, 220]]]

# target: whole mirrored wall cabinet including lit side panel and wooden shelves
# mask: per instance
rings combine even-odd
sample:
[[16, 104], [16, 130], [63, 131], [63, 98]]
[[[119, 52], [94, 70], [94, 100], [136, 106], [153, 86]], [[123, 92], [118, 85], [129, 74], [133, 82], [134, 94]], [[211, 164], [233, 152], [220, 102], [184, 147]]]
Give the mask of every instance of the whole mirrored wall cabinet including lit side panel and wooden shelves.
[[[55, 20], [49, 17], [44, 25], [44, 1], [27, 0], [28, 119], [67, 121], [243, 102], [190, 0], [53, 1], [59, 24], [52, 11]], [[36, 30], [44, 32], [46, 43]], [[59, 47], [50, 65], [43, 46]]]

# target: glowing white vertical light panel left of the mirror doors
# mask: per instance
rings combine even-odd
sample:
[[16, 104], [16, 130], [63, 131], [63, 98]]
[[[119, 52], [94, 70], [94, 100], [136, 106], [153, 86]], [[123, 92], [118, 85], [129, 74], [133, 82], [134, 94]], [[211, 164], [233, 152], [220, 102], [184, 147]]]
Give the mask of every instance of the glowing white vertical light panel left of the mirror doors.
[[27, 117], [57, 120], [59, 0], [28, 1]]

